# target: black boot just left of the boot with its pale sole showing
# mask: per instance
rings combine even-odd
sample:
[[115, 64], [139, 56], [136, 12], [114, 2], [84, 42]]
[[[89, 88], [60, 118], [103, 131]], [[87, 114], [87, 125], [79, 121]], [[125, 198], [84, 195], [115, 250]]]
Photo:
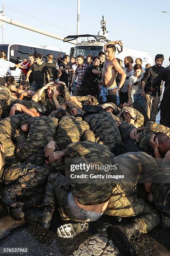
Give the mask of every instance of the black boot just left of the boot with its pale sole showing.
[[42, 207], [41, 211], [32, 212], [25, 216], [25, 220], [30, 223], [36, 223], [44, 228], [50, 227], [50, 222], [52, 219], [52, 214], [54, 208], [50, 205]]

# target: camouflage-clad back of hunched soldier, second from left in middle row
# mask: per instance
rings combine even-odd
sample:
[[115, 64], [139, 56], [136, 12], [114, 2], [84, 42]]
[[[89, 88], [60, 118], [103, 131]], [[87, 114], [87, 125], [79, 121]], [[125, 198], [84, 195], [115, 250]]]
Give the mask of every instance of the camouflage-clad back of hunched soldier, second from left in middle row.
[[32, 154], [45, 148], [49, 141], [53, 141], [57, 129], [58, 119], [50, 116], [30, 118], [28, 121], [28, 138], [17, 149], [17, 157], [23, 162]]

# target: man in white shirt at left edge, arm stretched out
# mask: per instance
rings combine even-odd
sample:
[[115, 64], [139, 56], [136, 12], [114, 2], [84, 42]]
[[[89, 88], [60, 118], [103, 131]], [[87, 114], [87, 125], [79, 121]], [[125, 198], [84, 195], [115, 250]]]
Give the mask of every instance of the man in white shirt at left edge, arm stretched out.
[[5, 86], [5, 77], [10, 67], [20, 67], [20, 64], [14, 64], [11, 61], [6, 61], [3, 58], [2, 51], [0, 52], [0, 86]]

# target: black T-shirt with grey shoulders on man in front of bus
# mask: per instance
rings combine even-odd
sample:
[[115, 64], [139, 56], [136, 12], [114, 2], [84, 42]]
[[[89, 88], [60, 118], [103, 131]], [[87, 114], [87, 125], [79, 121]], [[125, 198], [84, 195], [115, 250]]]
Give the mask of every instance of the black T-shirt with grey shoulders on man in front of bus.
[[38, 65], [37, 63], [32, 64], [30, 70], [33, 73], [33, 82], [42, 84], [45, 82], [45, 69], [47, 69], [45, 62], [42, 62], [41, 65]]

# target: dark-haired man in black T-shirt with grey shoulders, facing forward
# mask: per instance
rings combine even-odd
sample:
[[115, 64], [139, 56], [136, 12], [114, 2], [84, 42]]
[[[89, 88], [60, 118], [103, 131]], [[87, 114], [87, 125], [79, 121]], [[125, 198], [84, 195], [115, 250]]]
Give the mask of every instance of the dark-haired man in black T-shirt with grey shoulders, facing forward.
[[[42, 88], [45, 84], [45, 71], [47, 72], [46, 63], [42, 62], [42, 54], [37, 53], [35, 54], [35, 61], [36, 63], [33, 63], [30, 67], [30, 70], [27, 73], [26, 81], [29, 81], [30, 73], [33, 73], [33, 83], [32, 87], [34, 91], [39, 90]], [[47, 79], [50, 80], [49, 74], [47, 74]]]

